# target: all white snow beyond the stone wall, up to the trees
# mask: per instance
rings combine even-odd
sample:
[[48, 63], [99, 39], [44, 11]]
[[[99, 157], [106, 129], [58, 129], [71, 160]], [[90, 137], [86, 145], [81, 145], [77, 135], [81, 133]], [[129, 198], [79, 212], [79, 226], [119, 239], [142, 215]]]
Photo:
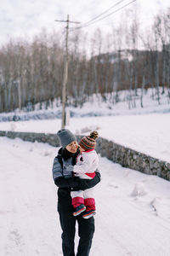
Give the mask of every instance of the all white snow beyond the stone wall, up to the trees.
[[[133, 148], [141, 153], [170, 162], [170, 100], [168, 90], [161, 93], [160, 105], [157, 102], [156, 90], [144, 90], [144, 108], [140, 107], [141, 90], [138, 96], [133, 96], [136, 108], [128, 109], [127, 97], [129, 91], [119, 91], [119, 102], [113, 104], [115, 93], [105, 94], [105, 102], [99, 95], [93, 95], [89, 102], [85, 102], [82, 108], [67, 108], [74, 117], [71, 117], [66, 128], [76, 134], [88, 135], [89, 131], [97, 129], [99, 136]], [[69, 99], [72, 101], [71, 99]], [[49, 119], [59, 117], [60, 107], [48, 108], [45, 104], [37, 103], [36, 111], [29, 113], [17, 113], [20, 119], [23, 115], [34, 118], [29, 121], [0, 122], [0, 131], [32, 131], [56, 133], [61, 127], [61, 119]], [[56, 102], [54, 102], [56, 105]], [[0, 113], [0, 120], [15, 113]], [[39, 120], [35, 120], [39, 118]], [[46, 118], [46, 119], [42, 119]]]

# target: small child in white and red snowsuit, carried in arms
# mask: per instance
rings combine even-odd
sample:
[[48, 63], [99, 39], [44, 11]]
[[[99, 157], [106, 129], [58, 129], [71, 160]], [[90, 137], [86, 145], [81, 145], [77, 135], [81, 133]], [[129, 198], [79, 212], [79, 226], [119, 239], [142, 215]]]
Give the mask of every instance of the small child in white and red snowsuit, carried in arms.
[[[93, 131], [87, 137], [82, 137], [80, 141], [81, 154], [77, 156], [77, 164], [73, 166], [73, 175], [92, 179], [95, 176], [95, 171], [99, 166], [99, 157], [95, 151], [96, 138], [98, 132]], [[94, 188], [86, 190], [71, 191], [72, 206], [75, 208], [74, 216], [82, 215], [83, 218], [91, 218], [95, 214]], [[85, 212], [86, 211], [86, 212]]]

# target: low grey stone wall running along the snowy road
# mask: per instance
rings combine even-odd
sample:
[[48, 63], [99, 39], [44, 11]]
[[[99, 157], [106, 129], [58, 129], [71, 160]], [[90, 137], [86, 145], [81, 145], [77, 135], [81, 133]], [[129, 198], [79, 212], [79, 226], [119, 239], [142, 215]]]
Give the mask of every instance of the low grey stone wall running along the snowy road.
[[[30, 133], [15, 131], [0, 131], [0, 137], [20, 137], [24, 141], [48, 143], [54, 147], [59, 147], [59, 139], [55, 134], [49, 133]], [[77, 136], [77, 141], [81, 136]], [[170, 163], [141, 154], [131, 148], [108, 141], [102, 137], [97, 140], [96, 151], [109, 160], [116, 162], [124, 167], [144, 172], [151, 175], [157, 175], [170, 180]]]

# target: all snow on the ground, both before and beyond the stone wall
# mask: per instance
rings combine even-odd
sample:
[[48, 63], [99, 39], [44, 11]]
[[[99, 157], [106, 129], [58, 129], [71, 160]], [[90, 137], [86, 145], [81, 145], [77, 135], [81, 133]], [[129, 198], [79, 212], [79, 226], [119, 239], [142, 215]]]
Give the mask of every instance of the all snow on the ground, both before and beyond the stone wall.
[[[87, 102], [66, 128], [99, 136], [170, 162], [170, 105], [144, 96], [144, 108], [121, 102]], [[31, 118], [59, 115], [60, 108], [30, 113]], [[51, 112], [52, 111], [52, 112]], [[25, 113], [20, 113], [24, 119]], [[40, 114], [40, 115], [39, 115]], [[94, 116], [96, 115], [96, 116]], [[13, 118], [14, 113], [1, 113]], [[91, 116], [91, 117], [90, 117]], [[21, 118], [22, 119], [22, 118]], [[0, 122], [0, 131], [56, 133], [60, 119]], [[61, 229], [52, 166], [58, 148], [0, 137], [0, 255], [59, 256]], [[96, 230], [91, 256], [169, 256], [170, 183], [114, 164], [99, 156], [102, 181], [96, 186]], [[77, 245], [78, 237], [76, 238]]]

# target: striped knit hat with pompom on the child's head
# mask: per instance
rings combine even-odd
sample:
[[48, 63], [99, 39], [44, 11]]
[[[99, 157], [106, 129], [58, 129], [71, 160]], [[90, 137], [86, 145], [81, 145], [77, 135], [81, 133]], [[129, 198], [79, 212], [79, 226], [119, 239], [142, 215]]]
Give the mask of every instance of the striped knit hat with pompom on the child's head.
[[82, 137], [82, 140], [80, 141], [79, 145], [85, 150], [91, 150], [94, 149], [96, 146], [96, 139], [99, 137], [99, 134], [97, 131], [92, 131], [89, 136]]

